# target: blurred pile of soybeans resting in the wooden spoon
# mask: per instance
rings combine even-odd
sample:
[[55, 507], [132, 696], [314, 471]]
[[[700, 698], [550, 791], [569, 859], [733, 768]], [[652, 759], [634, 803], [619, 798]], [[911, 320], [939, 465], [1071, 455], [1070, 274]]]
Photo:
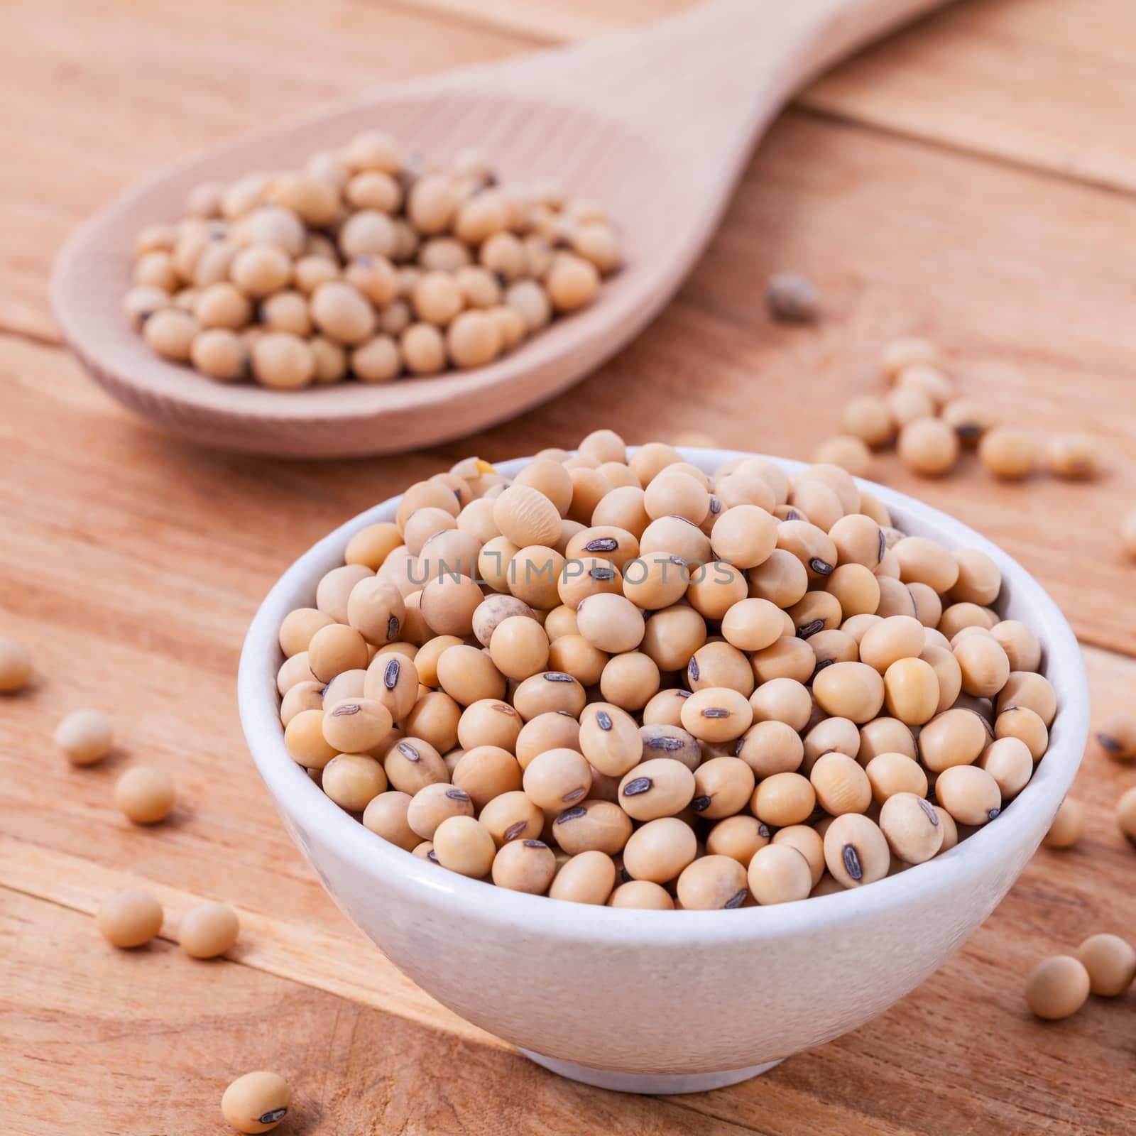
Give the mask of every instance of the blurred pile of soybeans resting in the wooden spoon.
[[194, 189], [135, 241], [127, 318], [161, 358], [276, 390], [493, 362], [590, 304], [620, 252], [604, 210], [362, 134], [298, 170]]

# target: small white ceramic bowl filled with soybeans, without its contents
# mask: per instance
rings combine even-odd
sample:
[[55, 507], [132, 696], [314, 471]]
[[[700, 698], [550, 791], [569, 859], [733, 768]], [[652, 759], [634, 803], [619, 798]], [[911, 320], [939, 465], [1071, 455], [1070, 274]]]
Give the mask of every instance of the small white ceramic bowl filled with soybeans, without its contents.
[[[690, 449], [711, 470], [742, 454]], [[799, 462], [779, 461], [788, 471]], [[506, 462], [515, 474], [524, 460]], [[989, 553], [1002, 613], [1044, 648], [1060, 710], [1029, 785], [928, 863], [857, 891], [736, 911], [628, 911], [466, 879], [403, 852], [333, 804], [284, 749], [277, 628], [310, 604], [348, 538], [394, 518], [361, 513], [302, 556], [265, 600], [241, 659], [241, 721], [287, 830], [344, 912], [440, 1002], [569, 1077], [633, 1092], [733, 1084], [886, 1010], [994, 910], [1045, 835], [1088, 733], [1077, 641], [1044, 590], [945, 513], [870, 486], [899, 527]]]

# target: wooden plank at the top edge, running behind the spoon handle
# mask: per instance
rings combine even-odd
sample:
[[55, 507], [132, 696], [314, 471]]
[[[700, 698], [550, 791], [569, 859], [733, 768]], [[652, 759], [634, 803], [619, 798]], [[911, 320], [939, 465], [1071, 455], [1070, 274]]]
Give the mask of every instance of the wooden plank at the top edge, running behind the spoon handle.
[[[694, 0], [391, 0], [533, 43], [632, 27]], [[1105, 34], [1101, 30], [1108, 28]], [[1136, 16], [1124, 0], [967, 0], [813, 83], [799, 107], [1130, 191]]]

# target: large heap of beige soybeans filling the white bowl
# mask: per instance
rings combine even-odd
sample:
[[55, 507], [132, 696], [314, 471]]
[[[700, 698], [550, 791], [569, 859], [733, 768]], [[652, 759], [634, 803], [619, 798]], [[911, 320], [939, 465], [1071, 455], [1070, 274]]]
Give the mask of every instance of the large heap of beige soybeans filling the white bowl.
[[870, 884], [994, 820], [1058, 710], [995, 562], [835, 466], [599, 431], [410, 486], [344, 560], [281, 627], [289, 752], [400, 847], [554, 899]]

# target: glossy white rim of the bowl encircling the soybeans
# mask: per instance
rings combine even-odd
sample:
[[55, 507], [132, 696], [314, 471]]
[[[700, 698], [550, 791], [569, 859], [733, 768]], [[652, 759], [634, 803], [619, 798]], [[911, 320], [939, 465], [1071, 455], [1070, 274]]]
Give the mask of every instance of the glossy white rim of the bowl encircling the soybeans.
[[[634, 452], [636, 448], [629, 446]], [[738, 450], [676, 446], [684, 459], [712, 470], [737, 458], [761, 457], [793, 474], [808, 463], [787, 458]], [[496, 462], [510, 476], [532, 458]], [[1050, 747], [1035, 767], [1029, 784], [995, 821], [972, 833], [942, 855], [896, 875], [822, 896], [793, 903], [745, 908], [735, 911], [641, 911], [592, 907], [528, 895], [440, 870], [365, 828], [353, 816], [331, 801], [298, 766], [284, 746], [279, 726], [276, 671], [283, 658], [277, 632], [293, 607], [310, 602], [315, 583], [342, 563], [348, 540], [360, 528], [393, 518], [401, 496], [389, 498], [357, 515], [299, 557], [272, 587], [249, 627], [241, 653], [237, 694], [241, 725], [253, 761], [277, 810], [302, 812], [308, 824], [341, 858], [362, 874], [394, 879], [403, 893], [416, 893], [424, 903], [444, 902], [451, 918], [475, 919], [502, 929], [523, 925], [532, 930], [588, 942], [690, 945], [736, 938], [761, 939], [835, 928], [860, 918], [885, 914], [934, 892], [950, 894], [969, 888], [989, 870], [992, 862], [1037, 837], [1036, 815], [1051, 817], [1064, 799], [1080, 765], [1088, 736], [1088, 680], [1080, 646], [1068, 621], [1041, 584], [1021, 565], [979, 533], [949, 513], [914, 498], [864, 478], [857, 484], [876, 495], [897, 519], [933, 528], [952, 548], [977, 548], [999, 565], [1003, 588], [1030, 610], [1029, 626], [1043, 643], [1045, 677], [1058, 694], [1060, 712], [1050, 732]], [[303, 599], [307, 593], [308, 600]], [[1004, 593], [1003, 593], [1004, 594]], [[1018, 802], [1021, 802], [1019, 805]], [[1034, 845], [1036, 847], [1036, 843]], [[1033, 852], [1033, 849], [1030, 850]]]

